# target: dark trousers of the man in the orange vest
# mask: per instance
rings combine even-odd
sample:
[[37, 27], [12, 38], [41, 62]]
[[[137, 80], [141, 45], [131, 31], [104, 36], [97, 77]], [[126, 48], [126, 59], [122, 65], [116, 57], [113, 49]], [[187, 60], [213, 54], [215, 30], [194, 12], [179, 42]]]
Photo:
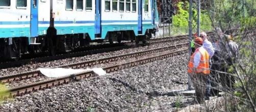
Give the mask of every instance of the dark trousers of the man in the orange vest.
[[195, 89], [196, 101], [198, 103], [203, 103], [204, 101], [204, 95], [206, 94], [207, 76], [208, 75], [202, 73], [192, 73], [190, 75], [191, 81]]

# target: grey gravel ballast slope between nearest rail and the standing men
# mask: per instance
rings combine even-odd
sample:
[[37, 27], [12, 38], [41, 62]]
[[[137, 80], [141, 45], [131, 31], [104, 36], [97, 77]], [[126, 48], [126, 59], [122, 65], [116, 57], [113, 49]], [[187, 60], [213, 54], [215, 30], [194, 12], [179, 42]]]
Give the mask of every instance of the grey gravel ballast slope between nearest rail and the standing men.
[[193, 97], [147, 93], [186, 89], [186, 83], [184, 54], [17, 97], [0, 111], [175, 111], [177, 102], [190, 104]]

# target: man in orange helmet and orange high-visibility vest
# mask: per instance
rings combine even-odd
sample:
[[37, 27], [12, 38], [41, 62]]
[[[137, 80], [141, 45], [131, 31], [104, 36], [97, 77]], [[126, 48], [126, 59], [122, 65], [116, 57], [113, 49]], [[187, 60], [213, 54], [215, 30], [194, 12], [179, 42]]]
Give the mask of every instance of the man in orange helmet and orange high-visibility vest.
[[202, 47], [203, 40], [200, 37], [195, 38], [194, 44], [196, 50], [190, 57], [188, 73], [193, 82], [196, 101], [202, 103], [206, 94], [207, 76], [210, 74], [210, 57], [207, 50]]

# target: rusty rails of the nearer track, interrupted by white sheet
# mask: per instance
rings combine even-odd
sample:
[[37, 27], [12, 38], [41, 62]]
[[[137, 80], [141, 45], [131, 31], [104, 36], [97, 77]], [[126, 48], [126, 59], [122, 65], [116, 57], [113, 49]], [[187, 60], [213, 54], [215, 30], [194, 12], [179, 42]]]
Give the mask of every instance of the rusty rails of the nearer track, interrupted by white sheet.
[[[180, 44], [180, 45], [182, 45], [182, 44]], [[177, 46], [180, 46], [180, 45], [177, 45]], [[183, 44], [183, 45], [187, 46], [187, 43]], [[170, 48], [173, 48], [173, 47], [176, 48], [176, 46], [170, 46], [170, 47], [166, 47], [166, 48], [162, 48], [162, 49], [158, 49], [158, 50], [166, 51], [166, 49], [170, 49]], [[155, 51], [157, 51], [157, 49]], [[152, 52], [152, 51], [140, 52], [140, 54], [149, 53], [149, 52]], [[175, 51], [168, 51], [168, 52], [162, 53], [160, 55], [151, 56], [151, 57], [135, 60], [135, 61], [132, 61], [132, 62], [126, 62], [126, 63], [122, 63], [122, 64], [107, 66], [107, 67], [104, 67], [103, 69], [107, 73], [110, 73], [110, 72], [114, 72], [114, 71], [117, 71], [117, 70], [120, 70], [120, 69], [134, 67], [134, 66], [137, 66], [137, 65], [140, 65], [140, 64], [145, 64], [145, 63], [149, 63], [149, 62], [153, 62], [153, 61], [156, 61], [156, 60], [161, 60], [161, 59], [173, 57], [174, 55], [180, 55], [180, 54], [184, 54], [184, 53], [187, 53], [186, 48], [180, 49], [180, 50], [175, 50]], [[135, 56], [135, 55], [138, 55], [138, 53], [137, 54], [125, 54], [122, 57], [123, 58], [132, 57], [132, 55]], [[103, 63], [104, 61], [110, 61], [111, 59], [112, 60], [119, 60], [120, 58], [121, 58], [120, 56], [115, 57], [115, 58], [113, 57], [113, 58], [110, 58], [110, 59], [105, 59], [105, 60], [97, 61], [97, 62]], [[96, 64], [96, 61], [92, 61], [90, 63], [93, 65], [93, 64]], [[81, 67], [86, 66], [88, 64], [89, 64], [88, 62], [84, 62], [84, 63], [79, 63], [79, 64], [77, 63], [77, 64], [71, 64], [71, 65], [66, 65], [66, 66], [70, 67], [70, 68], [81, 68]], [[34, 91], [37, 91], [37, 90], [42, 90], [42, 89], [45, 89], [45, 88], [51, 88], [51, 87], [54, 87], [54, 86], [62, 85], [64, 83], [68, 83], [72, 80], [79, 80], [79, 79], [83, 79], [83, 78], [87, 78], [87, 77], [91, 77], [91, 76], [95, 76], [94, 72], [93, 71], [86, 71], [86, 72], [81, 72], [81, 73], [78, 73], [78, 74], [72, 74], [72, 75], [64, 76], [64, 77], [60, 77], [60, 78], [53, 78], [53, 79], [49, 79], [49, 80], [45, 80], [45, 81], [36, 82], [36, 83], [32, 83], [30, 85], [15, 87], [15, 88], [9, 89], [7, 91], [1, 91], [0, 94], [10, 92], [10, 94], [8, 96], [9, 97], [14, 97], [16, 95], [23, 95], [23, 94], [26, 94], [26, 93], [34, 92]], [[1, 94], [1, 95], [3, 95], [3, 94]]]

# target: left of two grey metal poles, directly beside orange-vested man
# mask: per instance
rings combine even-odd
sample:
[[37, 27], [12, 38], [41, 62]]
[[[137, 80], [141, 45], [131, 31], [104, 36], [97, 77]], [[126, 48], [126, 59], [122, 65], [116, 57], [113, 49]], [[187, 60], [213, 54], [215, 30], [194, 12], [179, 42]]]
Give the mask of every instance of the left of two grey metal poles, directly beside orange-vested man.
[[[190, 54], [191, 54], [191, 41], [192, 41], [192, 0], [189, 0], [189, 60], [190, 60]], [[191, 89], [191, 79], [188, 74], [188, 89]]]

